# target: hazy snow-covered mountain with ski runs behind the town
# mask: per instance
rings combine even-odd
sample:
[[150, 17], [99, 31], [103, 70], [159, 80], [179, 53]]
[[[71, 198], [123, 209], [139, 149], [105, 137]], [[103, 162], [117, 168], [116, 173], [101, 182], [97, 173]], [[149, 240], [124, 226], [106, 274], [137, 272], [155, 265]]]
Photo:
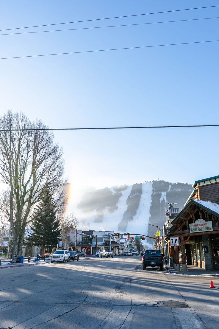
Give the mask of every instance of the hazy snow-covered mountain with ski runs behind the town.
[[185, 183], [153, 181], [128, 186], [92, 189], [83, 194], [74, 212], [83, 230], [109, 230], [153, 235], [151, 223], [163, 226], [167, 202], [182, 209], [192, 186]]

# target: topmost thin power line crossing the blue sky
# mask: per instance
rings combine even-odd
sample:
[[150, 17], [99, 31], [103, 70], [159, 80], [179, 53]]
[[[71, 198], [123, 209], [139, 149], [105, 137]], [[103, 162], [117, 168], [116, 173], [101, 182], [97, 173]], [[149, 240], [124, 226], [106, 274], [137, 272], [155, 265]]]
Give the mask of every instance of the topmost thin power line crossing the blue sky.
[[54, 23], [54, 24], [24, 26], [24, 27], [16, 27], [16, 28], [11, 28], [11, 29], [3, 29], [3, 30], [0, 30], [0, 31], [19, 30], [19, 29], [30, 29], [30, 28], [33, 28], [33, 27], [52, 26], [52, 25], [61, 25], [61, 24], [72, 24], [72, 23], [82, 23], [82, 22], [92, 22], [92, 21], [98, 21], [98, 20], [104, 20], [104, 19], [125, 18], [125, 17], [144, 16], [144, 15], [153, 15], [153, 14], [161, 14], [161, 13], [182, 12], [182, 11], [186, 11], [186, 10], [196, 10], [196, 9], [205, 9], [205, 8], [214, 8], [214, 7], [219, 7], [219, 5], [216, 5], [216, 6], [206, 6], [206, 7], [196, 7], [196, 8], [187, 8], [187, 9], [177, 9], [177, 10], [168, 10], [168, 11], [165, 11], [165, 12], [156, 12], [156, 13], [144, 13], [144, 14], [135, 14], [135, 15], [116, 16], [116, 17], [105, 17], [105, 18], [96, 18], [96, 19], [86, 19], [86, 20], [81, 20], [81, 21], [64, 22], [64, 23]]

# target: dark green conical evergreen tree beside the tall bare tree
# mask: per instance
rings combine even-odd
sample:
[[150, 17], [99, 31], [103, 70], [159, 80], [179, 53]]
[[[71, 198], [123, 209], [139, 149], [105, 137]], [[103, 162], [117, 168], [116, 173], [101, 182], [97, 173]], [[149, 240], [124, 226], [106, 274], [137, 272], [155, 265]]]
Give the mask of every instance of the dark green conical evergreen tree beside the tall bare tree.
[[61, 234], [60, 221], [56, 220], [56, 205], [48, 186], [42, 190], [41, 200], [32, 215], [32, 233], [29, 240], [42, 246], [42, 256], [45, 246], [55, 246], [57, 237]]

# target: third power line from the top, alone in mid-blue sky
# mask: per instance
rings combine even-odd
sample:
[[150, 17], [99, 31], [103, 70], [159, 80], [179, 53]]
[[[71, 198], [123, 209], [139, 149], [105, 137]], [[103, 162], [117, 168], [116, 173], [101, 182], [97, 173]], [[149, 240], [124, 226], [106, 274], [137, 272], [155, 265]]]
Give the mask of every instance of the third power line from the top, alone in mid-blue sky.
[[151, 46], [126, 47], [126, 48], [112, 48], [112, 49], [98, 49], [98, 50], [86, 50], [86, 51], [73, 51], [73, 52], [69, 52], [69, 53], [55, 53], [55, 54], [43, 54], [43, 55], [29, 55], [29, 56], [3, 57], [3, 58], [0, 58], [0, 60], [9, 60], [9, 59], [14, 59], [14, 58], [28, 58], [28, 57], [55, 56], [55, 55], [69, 55], [69, 54], [97, 53], [97, 52], [101, 52], [101, 51], [113, 51], [113, 50], [127, 50], [127, 49], [140, 49], [140, 48], [165, 47], [165, 46], [176, 46], [176, 45], [183, 45], [183, 44], [195, 44], [195, 43], [218, 42], [218, 41], [219, 41], [219, 40], [193, 41], [193, 42], [181, 42], [181, 43], [157, 44], [157, 45], [151, 45]]

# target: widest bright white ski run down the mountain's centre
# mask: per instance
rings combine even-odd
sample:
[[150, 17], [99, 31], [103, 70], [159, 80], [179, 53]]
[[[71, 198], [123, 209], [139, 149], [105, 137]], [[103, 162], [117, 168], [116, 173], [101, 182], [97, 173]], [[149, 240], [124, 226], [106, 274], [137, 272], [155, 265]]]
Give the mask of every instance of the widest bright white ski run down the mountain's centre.
[[147, 235], [147, 225], [150, 217], [151, 194], [153, 183], [142, 184], [142, 195], [133, 221], [129, 222], [127, 232]]

